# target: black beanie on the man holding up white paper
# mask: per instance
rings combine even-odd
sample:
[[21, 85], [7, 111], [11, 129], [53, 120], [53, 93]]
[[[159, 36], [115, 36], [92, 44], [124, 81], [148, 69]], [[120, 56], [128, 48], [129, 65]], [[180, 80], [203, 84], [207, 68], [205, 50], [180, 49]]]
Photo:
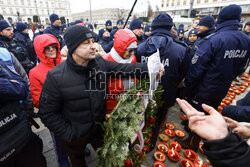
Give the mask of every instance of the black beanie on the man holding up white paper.
[[69, 27], [65, 34], [64, 40], [69, 49], [69, 54], [72, 55], [74, 50], [85, 40], [94, 38], [91, 31], [81, 25], [73, 25]]

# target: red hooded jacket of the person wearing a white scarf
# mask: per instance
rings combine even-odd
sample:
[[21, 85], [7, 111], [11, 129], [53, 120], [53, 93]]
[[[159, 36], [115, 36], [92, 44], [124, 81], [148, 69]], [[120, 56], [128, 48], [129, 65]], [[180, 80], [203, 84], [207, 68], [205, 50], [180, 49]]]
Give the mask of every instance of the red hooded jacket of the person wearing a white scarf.
[[[114, 49], [122, 57], [127, 47], [134, 41], [137, 42], [137, 38], [131, 30], [127, 30], [127, 29], [122, 30], [122, 31], [118, 30], [114, 37]], [[104, 59], [115, 62], [115, 63], [119, 63], [119, 62], [116, 62], [112, 58], [111, 53], [104, 56]], [[135, 55], [133, 55], [133, 60], [131, 63], [132, 64], [137, 63]], [[108, 79], [107, 80], [108, 94], [111, 94], [113, 96], [107, 99], [106, 114], [110, 114], [118, 103], [118, 101], [115, 99], [116, 98], [115, 95], [119, 95], [120, 93], [125, 91], [122, 80], [123, 79]], [[135, 79], [135, 82], [136, 82], [136, 79]]]

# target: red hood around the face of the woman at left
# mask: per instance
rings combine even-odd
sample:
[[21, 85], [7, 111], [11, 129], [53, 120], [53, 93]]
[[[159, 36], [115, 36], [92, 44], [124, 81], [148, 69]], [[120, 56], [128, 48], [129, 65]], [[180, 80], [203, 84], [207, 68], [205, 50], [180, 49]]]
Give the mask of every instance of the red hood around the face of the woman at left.
[[34, 48], [36, 51], [36, 55], [39, 57], [40, 61], [45, 64], [55, 65], [54, 59], [47, 57], [44, 53], [44, 48], [52, 44], [56, 44], [58, 48], [56, 55], [56, 65], [58, 65], [61, 62], [61, 52], [60, 44], [56, 37], [51, 34], [43, 34], [38, 35], [34, 40]]

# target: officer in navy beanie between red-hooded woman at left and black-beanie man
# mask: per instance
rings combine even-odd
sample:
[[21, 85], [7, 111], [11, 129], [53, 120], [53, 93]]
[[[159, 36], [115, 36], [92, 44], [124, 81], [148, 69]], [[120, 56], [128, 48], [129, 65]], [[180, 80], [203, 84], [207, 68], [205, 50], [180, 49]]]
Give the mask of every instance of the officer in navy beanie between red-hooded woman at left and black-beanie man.
[[61, 20], [59, 16], [54, 13], [49, 16], [49, 19], [51, 22], [51, 26], [47, 27], [43, 33], [54, 35], [60, 43], [60, 48], [62, 48], [64, 43], [63, 43], [62, 31], [60, 30], [60, 27], [62, 25]]

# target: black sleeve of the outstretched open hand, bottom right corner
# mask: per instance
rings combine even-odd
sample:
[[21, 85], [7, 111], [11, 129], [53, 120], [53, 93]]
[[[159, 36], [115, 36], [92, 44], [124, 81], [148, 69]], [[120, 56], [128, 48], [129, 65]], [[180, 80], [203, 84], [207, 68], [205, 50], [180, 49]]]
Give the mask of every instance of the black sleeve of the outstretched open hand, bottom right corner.
[[250, 164], [250, 147], [231, 129], [226, 138], [204, 141], [202, 148], [214, 167], [248, 167]]

